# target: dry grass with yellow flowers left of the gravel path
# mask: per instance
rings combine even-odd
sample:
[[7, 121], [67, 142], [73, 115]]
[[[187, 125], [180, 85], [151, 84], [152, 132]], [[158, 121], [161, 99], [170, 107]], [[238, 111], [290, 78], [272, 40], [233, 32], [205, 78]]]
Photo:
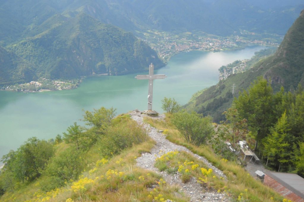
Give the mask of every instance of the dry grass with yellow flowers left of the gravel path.
[[[113, 125], [128, 121], [131, 121], [129, 115], [119, 115], [113, 120]], [[143, 143], [111, 156], [101, 156], [100, 145], [93, 145], [79, 156], [85, 162], [85, 169], [78, 179], [43, 192], [40, 186], [48, 180], [48, 176], [42, 175], [32, 182], [16, 183], [11, 191], [2, 195], [0, 201], [188, 201], [178, 187], [165, 183], [155, 172], [136, 166], [136, 158], [142, 152], [150, 152], [154, 145], [155, 141], [147, 137]], [[64, 142], [57, 144], [55, 155], [70, 147]]]

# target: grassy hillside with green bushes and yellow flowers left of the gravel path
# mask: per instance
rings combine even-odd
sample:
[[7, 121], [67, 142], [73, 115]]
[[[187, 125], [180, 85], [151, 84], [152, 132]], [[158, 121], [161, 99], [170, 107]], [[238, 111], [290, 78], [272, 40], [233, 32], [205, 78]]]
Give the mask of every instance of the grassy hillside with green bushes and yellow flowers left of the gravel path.
[[0, 200], [144, 201], [153, 196], [158, 201], [187, 201], [176, 195], [179, 188], [158, 185], [161, 176], [135, 166], [136, 158], [155, 142], [129, 115], [112, 119], [114, 111], [86, 111], [88, 128], [75, 123], [63, 137], [30, 138], [5, 155]]

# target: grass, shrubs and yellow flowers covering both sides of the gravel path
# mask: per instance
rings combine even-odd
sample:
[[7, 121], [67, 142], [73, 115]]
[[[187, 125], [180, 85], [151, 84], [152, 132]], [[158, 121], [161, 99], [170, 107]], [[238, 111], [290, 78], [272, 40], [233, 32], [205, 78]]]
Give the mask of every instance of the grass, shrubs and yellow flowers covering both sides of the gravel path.
[[[54, 142], [30, 138], [17, 151], [5, 155], [0, 200], [188, 201], [180, 187], [135, 165], [136, 158], [142, 152], [150, 152], [155, 142], [130, 115], [112, 119], [114, 112], [103, 107], [86, 111], [84, 121], [88, 127], [75, 123], [63, 137], [57, 135]], [[170, 114], [165, 120], [146, 121], [164, 130], [170, 141], [207, 158], [226, 175], [219, 177], [187, 152], [169, 152], [157, 158], [155, 166], [180, 173], [184, 186], [193, 176], [206, 189], [223, 192], [232, 200], [282, 201], [282, 197], [253, 179], [235, 161], [215, 155], [206, 143], [205, 146], [188, 143], [173, 126]]]

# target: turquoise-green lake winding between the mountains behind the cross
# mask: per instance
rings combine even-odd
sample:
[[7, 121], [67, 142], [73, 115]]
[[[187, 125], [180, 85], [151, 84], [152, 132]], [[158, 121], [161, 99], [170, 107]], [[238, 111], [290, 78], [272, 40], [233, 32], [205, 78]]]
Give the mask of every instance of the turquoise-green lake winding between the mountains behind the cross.
[[[186, 104], [195, 92], [218, 82], [219, 67], [249, 59], [264, 48], [256, 46], [216, 53], [190, 51], [174, 55], [165, 67], [154, 71], [168, 78], [154, 80], [153, 110], [163, 113], [161, 99], [165, 96]], [[148, 81], [135, 79], [137, 74], [86, 78], [77, 89], [71, 90], [0, 91], [0, 157], [10, 149], [16, 150], [30, 137], [48, 140], [65, 132], [75, 121], [81, 124], [83, 110], [92, 111], [102, 106], [116, 108], [116, 114], [146, 110]]]

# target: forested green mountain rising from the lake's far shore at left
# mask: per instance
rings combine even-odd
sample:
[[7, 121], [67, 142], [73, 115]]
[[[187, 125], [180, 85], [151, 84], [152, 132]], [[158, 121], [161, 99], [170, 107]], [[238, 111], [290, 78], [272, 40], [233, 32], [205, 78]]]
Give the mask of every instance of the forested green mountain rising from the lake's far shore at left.
[[[37, 78], [77, 78], [143, 71], [164, 63], [130, 32], [84, 13], [56, 14], [31, 30], [33, 36], [0, 47], [0, 85]], [[3, 38], [2, 38], [3, 39]]]

